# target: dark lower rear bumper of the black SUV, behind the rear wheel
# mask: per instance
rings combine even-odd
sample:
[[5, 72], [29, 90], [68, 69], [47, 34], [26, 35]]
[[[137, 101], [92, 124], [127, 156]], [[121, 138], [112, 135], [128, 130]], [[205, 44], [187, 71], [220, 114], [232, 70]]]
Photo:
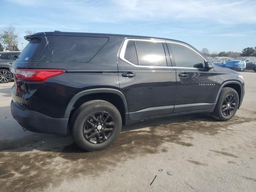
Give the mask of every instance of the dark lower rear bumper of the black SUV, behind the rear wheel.
[[11, 102], [12, 116], [26, 130], [38, 133], [66, 134], [68, 118], [51, 118], [32, 110], [23, 110]]

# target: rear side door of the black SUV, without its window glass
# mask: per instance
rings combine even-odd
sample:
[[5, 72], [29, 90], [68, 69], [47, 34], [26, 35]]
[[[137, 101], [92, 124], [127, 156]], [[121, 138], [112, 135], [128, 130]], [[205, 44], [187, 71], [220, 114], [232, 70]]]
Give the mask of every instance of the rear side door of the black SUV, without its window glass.
[[[142, 41], [152, 43], [147, 39]], [[165, 42], [158, 43], [164, 43], [162, 46], [165, 52], [164, 57], [166, 57], [168, 50]], [[124, 44], [122, 49], [125, 48]], [[167, 62], [166, 66], [151, 66], [150, 64], [141, 66], [128, 62], [122, 58], [121, 54], [118, 61], [118, 78], [120, 89], [127, 100], [129, 118], [137, 120], [171, 114], [176, 102], [176, 72], [171, 67], [170, 57], [164, 59]], [[153, 54], [150, 56], [153, 57]], [[127, 77], [125, 74], [134, 76]]]

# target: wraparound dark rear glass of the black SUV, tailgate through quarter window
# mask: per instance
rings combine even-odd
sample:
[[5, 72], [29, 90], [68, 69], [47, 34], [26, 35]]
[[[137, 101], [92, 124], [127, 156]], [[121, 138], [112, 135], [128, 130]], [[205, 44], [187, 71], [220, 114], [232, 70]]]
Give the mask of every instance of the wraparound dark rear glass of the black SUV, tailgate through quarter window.
[[23, 62], [88, 62], [108, 38], [81, 36], [34, 36], [17, 58]]

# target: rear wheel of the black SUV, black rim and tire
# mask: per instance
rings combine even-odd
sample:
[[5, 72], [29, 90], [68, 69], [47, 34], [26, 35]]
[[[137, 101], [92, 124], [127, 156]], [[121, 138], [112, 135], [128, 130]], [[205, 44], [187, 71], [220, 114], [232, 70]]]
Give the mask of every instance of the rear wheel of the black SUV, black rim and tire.
[[118, 138], [122, 128], [122, 117], [111, 103], [92, 100], [75, 110], [70, 127], [71, 135], [80, 148], [98, 151], [108, 147]]

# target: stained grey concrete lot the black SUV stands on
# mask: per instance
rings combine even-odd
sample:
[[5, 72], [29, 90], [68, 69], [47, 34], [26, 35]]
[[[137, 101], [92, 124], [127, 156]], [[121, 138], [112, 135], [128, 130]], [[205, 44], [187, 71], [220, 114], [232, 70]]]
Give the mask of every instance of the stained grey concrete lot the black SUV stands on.
[[140, 122], [99, 152], [81, 151], [69, 136], [23, 132], [10, 113], [13, 82], [0, 84], [0, 191], [255, 192], [256, 73], [242, 75], [246, 94], [232, 120]]

